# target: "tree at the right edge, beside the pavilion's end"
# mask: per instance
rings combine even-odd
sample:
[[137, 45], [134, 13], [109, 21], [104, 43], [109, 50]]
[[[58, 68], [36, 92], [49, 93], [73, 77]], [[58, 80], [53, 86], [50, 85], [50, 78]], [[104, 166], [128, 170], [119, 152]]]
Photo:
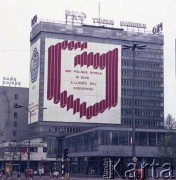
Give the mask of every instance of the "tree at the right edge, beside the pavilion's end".
[[162, 164], [170, 163], [176, 167], [176, 131], [174, 131], [176, 120], [171, 114], [168, 114], [164, 124], [168, 131], [158, 146], [158, 157]]

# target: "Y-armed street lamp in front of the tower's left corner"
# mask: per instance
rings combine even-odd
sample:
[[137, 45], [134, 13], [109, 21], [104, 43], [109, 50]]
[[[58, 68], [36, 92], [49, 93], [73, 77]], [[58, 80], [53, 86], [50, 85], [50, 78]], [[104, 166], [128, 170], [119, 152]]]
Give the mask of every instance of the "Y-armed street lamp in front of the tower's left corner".
[[[25, 109], [28, 110], [28, 112], [29, 112], [29, 117], [30, 117], [30, 118], [29, 118], [29, 124], [31, 124], [32, 113], [33, 113], [36, 109], [39, 109], [39, 110], [47, 109], [46, 107], [38, 107], [38, 108], [35, 108], [35, 109], [33, 109], [33, 110], [30, 110], [28, 107], [24, 107], [24, 106], [22, 106], [22, 105], [20, 105], [20, 104], [17, 104], [17, 103], [14, 104], [14, 108], [25, 108]], [[31, 139], [30, 139], [30, 136], [29, 136], [29, 129], [28, 129], [28, 159], [27, 159], [27, 169], [30, 168], [30, 155], [31, 155], [31, 153], [30, 153], [30, 146], [31, 146]]]

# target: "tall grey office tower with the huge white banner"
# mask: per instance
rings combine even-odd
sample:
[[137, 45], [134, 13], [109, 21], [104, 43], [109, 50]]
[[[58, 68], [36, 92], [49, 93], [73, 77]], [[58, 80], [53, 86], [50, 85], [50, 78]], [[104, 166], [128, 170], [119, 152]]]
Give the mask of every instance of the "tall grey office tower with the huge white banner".
[[[163, 127], [163, 35], [40, 21], [30, 42], [31, 136], [46, 138], [49, 154], [66, 134], [131, 126], [133, 110], [136, 127]], [[146, 45], [135, 51], [135, 79], [133, 52], [123, 49], [134, 43]]]

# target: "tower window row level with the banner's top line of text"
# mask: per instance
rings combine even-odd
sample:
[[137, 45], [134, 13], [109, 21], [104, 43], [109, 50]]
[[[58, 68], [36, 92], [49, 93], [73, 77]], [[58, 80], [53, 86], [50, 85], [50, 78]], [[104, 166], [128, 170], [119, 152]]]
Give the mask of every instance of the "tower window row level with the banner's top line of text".
[[[131, 70], [131, 69], [123, 69], [122, 70], [122, 76], [132, 76], [132, 75], [133, 75], [133, 70]], [[150, 77], [150, 78], [159, 77], [159, 78], [162, 78], [163, 73], [141, 70], [141, 71], [135, 71], [135, 77]]]

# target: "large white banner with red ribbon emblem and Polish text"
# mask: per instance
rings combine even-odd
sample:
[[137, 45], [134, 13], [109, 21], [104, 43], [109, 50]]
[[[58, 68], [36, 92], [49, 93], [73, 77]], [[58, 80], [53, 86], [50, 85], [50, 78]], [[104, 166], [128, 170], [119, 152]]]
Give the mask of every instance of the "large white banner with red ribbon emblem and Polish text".
[[120, 45], [46, 38], [44, 79], [44, 121], [120, 123]]

